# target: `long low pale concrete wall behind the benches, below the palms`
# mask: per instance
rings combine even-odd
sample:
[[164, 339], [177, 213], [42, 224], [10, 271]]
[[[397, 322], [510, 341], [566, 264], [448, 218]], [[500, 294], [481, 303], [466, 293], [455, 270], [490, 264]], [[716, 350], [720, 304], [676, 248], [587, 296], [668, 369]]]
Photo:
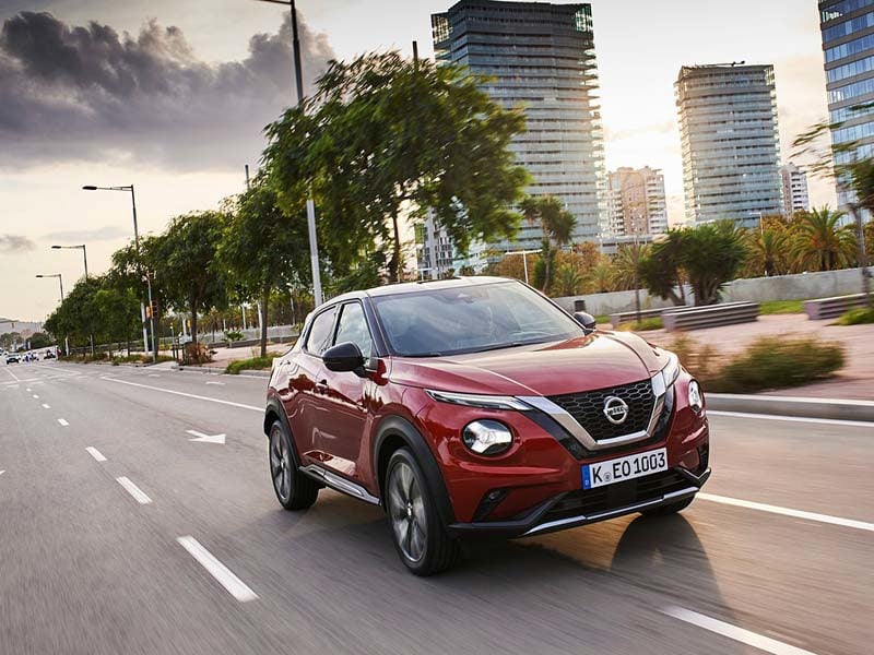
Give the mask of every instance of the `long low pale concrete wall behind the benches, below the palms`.
[[[870, 271], [874, 270], [870, 269]], [[768, 300], [806, 300], [810, 298], [846, 296], [858, 294], [861, 290], [860, 277], [859, 269], [843, 269], [824, 273], [735, 279], [722, 287], [722, 301], [766, 302]], [[634, 291], [569, 296], [555, 298], [554, 300], [568, 311], [574, 311], [575, 300], [584, 300], [586, 311], [594, 315], [634, 311], [636, 309]], [[687, 287], [686, 302], [693, 305], [694, 301], [695, 299]], [[640, 290], [641, 309], [661, 309], [664, 307], [673, 307], [673, 303], [670, 300], [652, 298], [645, 289]]]

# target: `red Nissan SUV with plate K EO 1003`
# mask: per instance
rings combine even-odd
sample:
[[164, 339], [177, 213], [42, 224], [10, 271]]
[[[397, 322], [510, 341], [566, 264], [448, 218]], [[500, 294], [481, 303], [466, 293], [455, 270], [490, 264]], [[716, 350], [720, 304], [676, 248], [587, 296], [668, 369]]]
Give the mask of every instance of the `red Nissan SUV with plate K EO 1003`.
[[710, 475], [698, 383], [516, 281], [454, 278], [322, 305], [276, 359], [264, 431], [280, 503], [330, 487], [382, 505], [403, 563], [687, 507]]

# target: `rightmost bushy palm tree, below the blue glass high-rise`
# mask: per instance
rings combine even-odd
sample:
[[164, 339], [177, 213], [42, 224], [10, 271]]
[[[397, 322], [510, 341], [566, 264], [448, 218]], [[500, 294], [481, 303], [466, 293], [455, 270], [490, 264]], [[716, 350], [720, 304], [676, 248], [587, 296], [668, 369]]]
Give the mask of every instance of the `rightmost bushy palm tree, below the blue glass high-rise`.
[[855, 235], [850, 226], [840, 225], [843, 215], [824, 206], [801, 217], [792, 243], [792, 258], [799, 266], [834, 271], [854, 261]]

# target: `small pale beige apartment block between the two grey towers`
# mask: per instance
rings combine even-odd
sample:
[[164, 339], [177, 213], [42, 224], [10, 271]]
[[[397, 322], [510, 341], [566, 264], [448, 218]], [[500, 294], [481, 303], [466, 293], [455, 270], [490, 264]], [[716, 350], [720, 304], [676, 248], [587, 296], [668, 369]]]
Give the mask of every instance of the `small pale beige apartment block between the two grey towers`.
[[661, 170], [618, 168], [607, 177], [610, 236], [662, 235], [668, 231], [668, 202]]

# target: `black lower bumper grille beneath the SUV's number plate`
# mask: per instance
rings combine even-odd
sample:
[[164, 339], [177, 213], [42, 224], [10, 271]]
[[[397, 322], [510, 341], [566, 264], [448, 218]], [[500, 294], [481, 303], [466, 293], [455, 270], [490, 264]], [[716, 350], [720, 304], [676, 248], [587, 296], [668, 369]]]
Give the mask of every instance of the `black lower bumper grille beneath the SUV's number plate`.
[[665, 493], [680, 491], [689, 486], [689, 481], [676, 471], [663, 471], [597, 489], [579, 489], [564, 496], [539, 523], [616, 510], [659, 499]]

